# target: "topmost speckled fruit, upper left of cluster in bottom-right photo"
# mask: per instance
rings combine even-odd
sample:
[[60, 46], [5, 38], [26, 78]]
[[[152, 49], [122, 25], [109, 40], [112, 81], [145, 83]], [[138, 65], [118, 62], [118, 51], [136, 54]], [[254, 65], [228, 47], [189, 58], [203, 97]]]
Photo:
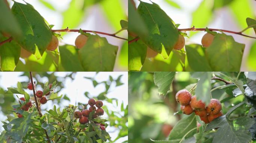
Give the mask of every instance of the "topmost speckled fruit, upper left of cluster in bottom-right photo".
[[180, 105], [188, 105], [191, 101], [191, 94], [188, 90], [182, 89], [175, 95], [176, 101], [180, 102]]

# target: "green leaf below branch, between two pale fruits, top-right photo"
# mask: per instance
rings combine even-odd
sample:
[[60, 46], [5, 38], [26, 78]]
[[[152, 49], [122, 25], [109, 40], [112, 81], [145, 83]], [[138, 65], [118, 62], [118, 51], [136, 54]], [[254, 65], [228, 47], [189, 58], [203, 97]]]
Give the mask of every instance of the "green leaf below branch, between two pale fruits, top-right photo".
[[205, 57], [205, 48], [198, 44], [185, 45], [188, 63], [194, 71], [212, 71]]

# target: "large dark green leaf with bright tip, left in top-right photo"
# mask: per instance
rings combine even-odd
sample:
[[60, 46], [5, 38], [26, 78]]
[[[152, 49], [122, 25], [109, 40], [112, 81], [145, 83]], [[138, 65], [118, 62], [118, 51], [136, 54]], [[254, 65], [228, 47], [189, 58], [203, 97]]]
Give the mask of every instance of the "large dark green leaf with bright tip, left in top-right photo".
[[173, 20], [155, 3], [149, 4], [141, 1], [138, 13], [149, 29], [147, 37], [140, 37], [142, 41], [149, 48], [161, 53], [164, 58], [168, 58], [179, 36]]

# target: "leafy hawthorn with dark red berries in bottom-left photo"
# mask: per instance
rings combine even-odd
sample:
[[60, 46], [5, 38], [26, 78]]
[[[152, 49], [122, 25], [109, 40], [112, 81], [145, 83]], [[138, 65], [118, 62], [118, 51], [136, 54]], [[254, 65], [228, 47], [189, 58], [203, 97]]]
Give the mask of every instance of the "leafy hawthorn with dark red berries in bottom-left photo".
[[[67, 74], [67, 77], [72, 74]], [[91, 99], [87, 101], [79, 101], [78, 105], [68, 105], [64, 108], [53, 106], [52, 109], [45, 110], [45, 103], [57, 100], [70, 100], [66, 95], [58, 96], [56, 87], [60, 88], [62, 85], [57, 85], [60, 82], [40, 83], [43, 90], [37, 89], [37, 82], [29, 73], [30, 80], [28, 84], [18, 82], [17, 87], [7, 88], [4, 93], [0, 95], [16, 95], [19, 103], [13, 103], [12, 109], [6, 111], [7, 121], [2, 121], [4, 131], [1, 132], [0, 142], [76, 142], [76, 143], [100, 143], [109, 142], [113, 143], [121, 137], [127, 136], [127, 114], [128, 106], [121, 105], [121, 112], [110, 111], [105, 105], [117, 104], [117, 99], [107, 98], [110, 86], [120, 86], [121, 76], [117, 79], [109, 77], [109, 80], [98, 83], [93, 77], [85, 77], [91, 80], [94, 87], [97, 85], [105, 85], [105, 91], [98, 95], [92, 96], [88, 92], [85, 96]], [[50, 76], [53, 77], [53, 76]], [[38, 77], [37, 77], [38, 78]], [[40, 78], [39, 78], [40, 81]], [[32, 84], [33, 83], [33, 84]], [[61, 84], [61, 83], [60, 83]], [[29, 89], [26, 92], [24, 88]], [[8, 102], [7, 99], [4, 102]], [[54, 102], [54, 103], [58, 103]], [[7, 105], [6, 105], [7, 106]], [[10, 106], [10, 105], [9, 105]], [[58, 107], [58, 108], [57, 108]], [[3, 108], [1, 106], [1, 108]], [[45, 110], [44, 112], [42, 112]], [[88, 112], [87, 112], [88, 111]], [[107, 114], [108, 118], [103, 118], [101, 115]], [[122, 119], [122, 120], [121, 120]], [[113, 139], [106, 132], [106, 128], [113, 126], [118, 128], [119, 134]]]

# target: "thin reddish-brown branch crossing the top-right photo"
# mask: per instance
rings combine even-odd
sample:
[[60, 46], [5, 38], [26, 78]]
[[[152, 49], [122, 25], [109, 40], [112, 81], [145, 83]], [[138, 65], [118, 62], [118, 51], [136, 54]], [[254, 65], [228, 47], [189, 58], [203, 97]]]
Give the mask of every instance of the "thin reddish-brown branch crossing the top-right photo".
[[[242, 35], [242, 36], [246, 36], [246, 37], [250, 37], [250, 38], [255, 38], [253, 36], [248, 36], [248, 35], [244, 35], [242, 34], [242, 32], [235, 32], [235, 31], [229, 31], [229, 30], [224, 30], [224, 29], [214, 29], [214, 28], [208, 28], [210, 31], [222, 31], [222, 32], [228, 32], [228, 33], [232, 33], [232, 34], [238, 34], [238, 35]], [[179, 31], [206, 31], [206, 28], [185, 28], [185, 29], [177, 29]], [[132, 42], [136, 42], [138, 41], [138, 39], [140, 39], [139, 37], [136, 37], [130, 41], [128, 41], [128, 44], [132, 43]]]

